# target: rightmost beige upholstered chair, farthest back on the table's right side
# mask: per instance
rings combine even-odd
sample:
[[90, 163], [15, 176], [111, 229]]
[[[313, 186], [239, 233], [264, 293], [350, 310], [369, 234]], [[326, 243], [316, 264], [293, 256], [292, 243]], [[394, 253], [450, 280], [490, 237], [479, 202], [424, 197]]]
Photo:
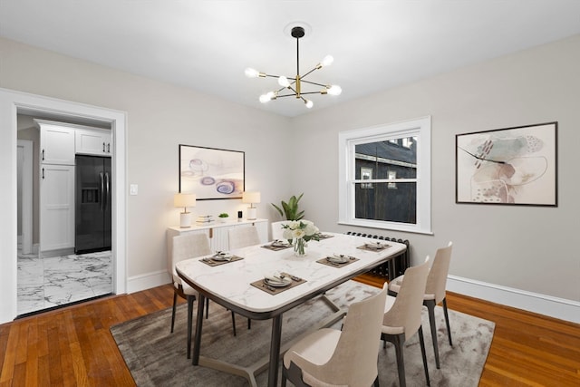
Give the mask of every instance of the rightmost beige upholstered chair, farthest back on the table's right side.
[[[439, 347], [437, 343], [437, 327], [435, 326], [435, 305], [443, 304], [443, 313], [445, 314], [445, 324], [447, 325], [447, 334], [449, 345], [451, 342], [451, 330], [449, 329], [449, 314], [447, 312], [447, 300], [445, 299], [445, 286], [447, 285], [447, 275], [449, 273], [449, 262], [451, 260], [451, 249], [453, 243], [449, 242], [447, 247], [441, 247], [435, 253], [433, 264], [431, 265], [429, 276], [427, 276], [427, 285], [425, 286], [425, 295], [423, 295], [423, 305], [427, 306], [429, 311], [429, 322], [431, 327], [431, 337], [433, 341], [433, 351], [435, 351], [435, 364], [440, 368]], [[396, 295], [401, 288], [403, 276], [397, 277], [389, 284], [389, 295]]]

